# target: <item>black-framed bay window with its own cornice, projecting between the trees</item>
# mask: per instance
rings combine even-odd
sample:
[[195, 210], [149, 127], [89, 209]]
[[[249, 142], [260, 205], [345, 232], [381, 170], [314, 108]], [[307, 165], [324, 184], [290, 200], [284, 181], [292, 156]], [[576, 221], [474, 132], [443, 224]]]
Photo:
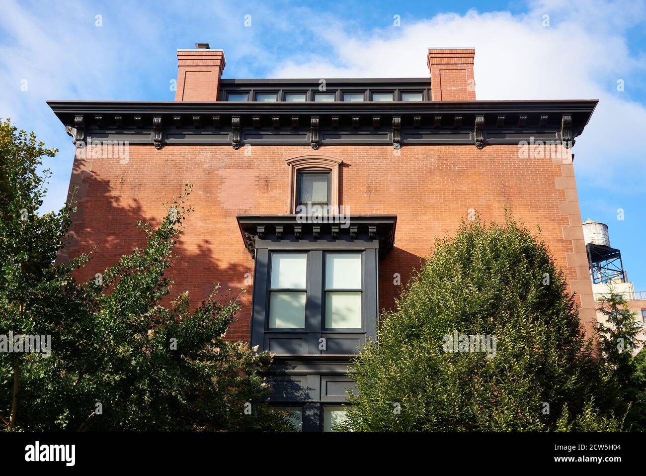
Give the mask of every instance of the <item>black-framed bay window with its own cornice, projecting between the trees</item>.
[[[301, 172], [328, 173], [295, 168], [293, 191]], [[308, 198], [322, 197], [315, 183]], [[300, 189], [295, 195], [302, 197]], [[348, 375], [353, 355], [377, 337], [378, 263], [393, 248], [397, 217], [237, 218], [255, 260], [249, 345], [275, 354], [264, 374], [269, 404], [300, 431], [335, 431], [346, 418], [348, 392], [357, 391]]]

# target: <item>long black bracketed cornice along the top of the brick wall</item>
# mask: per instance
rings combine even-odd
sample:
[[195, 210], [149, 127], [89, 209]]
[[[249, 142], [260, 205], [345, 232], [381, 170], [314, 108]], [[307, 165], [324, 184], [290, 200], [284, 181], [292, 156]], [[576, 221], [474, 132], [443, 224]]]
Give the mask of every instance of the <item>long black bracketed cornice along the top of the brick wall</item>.
[[74, 142], [171, 145], [574, 144], [597, 100], [469, 102], [49, 101]]

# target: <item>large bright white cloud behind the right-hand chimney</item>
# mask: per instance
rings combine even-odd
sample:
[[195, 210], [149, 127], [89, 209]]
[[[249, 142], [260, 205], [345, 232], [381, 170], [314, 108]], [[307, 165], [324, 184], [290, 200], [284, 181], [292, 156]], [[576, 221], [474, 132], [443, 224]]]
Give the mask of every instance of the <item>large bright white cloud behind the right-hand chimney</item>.
[[[545, 15], [549, 27], [543, 26]], [[521, 15], [470, 10], [404, 20], [400, 28], [370, 34], [357, 34], [339, 23], [315, 26], [318, 38], [333, 48], [329, 58], [334, 63], [322, 57], [304, 62], [288, 58], [269, 76], [424, 77], [428, 47], [475, 47], [479, 100], [599, 99], [574, 148], [578, 176], [594, 177], [610, 191], [643, 191], [641, 182], [623, 178], [627, 170], [632, 177], [636, 170], [640, 177], [646, 173], [640, 140], [646, 108], [629, 100], [629, 78], [645, 72], [646, 59], [630, 56], [624, 36], [643, 18], [641, 3], [554, 0], [534, 3]], [[625, 92], [616, 91], [622, 78]]]

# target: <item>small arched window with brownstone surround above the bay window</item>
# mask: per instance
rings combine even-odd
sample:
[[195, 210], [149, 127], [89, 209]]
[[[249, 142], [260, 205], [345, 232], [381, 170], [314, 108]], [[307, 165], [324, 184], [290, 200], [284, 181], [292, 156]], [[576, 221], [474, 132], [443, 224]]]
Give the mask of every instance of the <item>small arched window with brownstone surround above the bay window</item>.
[[339, 167], [343, 160], [326, 155], [302, 155], [286, 160], [289, 166], [289, 210], [297, 213], [299, 205], [329, 206], [339, 210]]

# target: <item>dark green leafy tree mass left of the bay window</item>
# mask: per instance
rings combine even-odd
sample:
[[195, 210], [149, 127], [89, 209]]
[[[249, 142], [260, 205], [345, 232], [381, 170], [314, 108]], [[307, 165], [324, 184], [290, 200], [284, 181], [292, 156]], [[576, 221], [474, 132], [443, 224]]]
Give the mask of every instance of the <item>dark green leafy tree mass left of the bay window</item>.
[[34, 134], [0, 126], [0, 335], [49, 334], [50, 356], [0, 352], [0, 417], [23, 430], [289, 429], [271, 411], [260, 372], [271, 355], [224, 340], [237, 297], [214, 293], [193, 308], [172, 288], [173, 246], [191, 212], [191, 186], [154, 228], [147, 245], [78, 283], [90, 255], [56, 263], [74, 212], [38, 215], [52, 157]]

